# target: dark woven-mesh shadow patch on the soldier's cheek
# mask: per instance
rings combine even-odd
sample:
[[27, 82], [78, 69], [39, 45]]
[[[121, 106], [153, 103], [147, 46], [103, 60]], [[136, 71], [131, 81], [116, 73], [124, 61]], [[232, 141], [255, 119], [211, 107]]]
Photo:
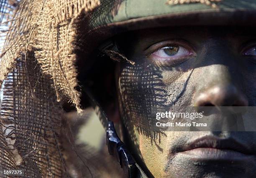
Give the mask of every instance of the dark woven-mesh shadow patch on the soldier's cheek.
[[161, 104], [158, 100], [165, 97], [159, 88], [163, 86], [160, 74], [153, 68], [127, 66], [120, 74], [118, 85], [124, 114], [136, 127], [145, 128], [147, 118]]

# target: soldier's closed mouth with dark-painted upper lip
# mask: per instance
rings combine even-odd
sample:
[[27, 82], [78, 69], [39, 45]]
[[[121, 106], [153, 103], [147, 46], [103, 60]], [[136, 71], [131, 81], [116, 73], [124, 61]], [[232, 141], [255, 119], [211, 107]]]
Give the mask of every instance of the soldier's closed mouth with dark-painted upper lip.
[[184, 146], [178, 155], [190, 160], [241, 163], [253, 160], [253, 153], [235, 139], [221, 139], [214, 136], [199, 138]]

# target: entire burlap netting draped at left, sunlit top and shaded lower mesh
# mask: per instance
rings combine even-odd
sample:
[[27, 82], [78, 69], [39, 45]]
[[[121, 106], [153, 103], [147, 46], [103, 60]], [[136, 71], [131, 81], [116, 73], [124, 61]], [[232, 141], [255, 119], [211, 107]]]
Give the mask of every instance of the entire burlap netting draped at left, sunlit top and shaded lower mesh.
[[[98, 0], [1, 0], [0, 170], [68, 177], [60, 142], [61, 101], [79, 110], [77, 17]], [[1, 40], [2, 42], [2, 40]], [[1, 175], [4, 176], [4, 175]]]

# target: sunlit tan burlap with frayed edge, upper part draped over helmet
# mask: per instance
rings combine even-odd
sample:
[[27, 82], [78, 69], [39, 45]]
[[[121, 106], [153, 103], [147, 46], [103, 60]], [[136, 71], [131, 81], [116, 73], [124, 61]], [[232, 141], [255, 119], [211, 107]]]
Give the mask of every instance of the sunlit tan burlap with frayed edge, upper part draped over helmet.
[[0, 56], [0, 82], [14, 68], [21, 51], [34, 51], [42, 72], [54, 81], [57, 100], [68, 98], [81, 113], [77, 56], [72, 44], [76, 38], [77, 17], [98, 5], [99, 0], [21, 1], [12, 17], [18, 20], [10, 21]]

